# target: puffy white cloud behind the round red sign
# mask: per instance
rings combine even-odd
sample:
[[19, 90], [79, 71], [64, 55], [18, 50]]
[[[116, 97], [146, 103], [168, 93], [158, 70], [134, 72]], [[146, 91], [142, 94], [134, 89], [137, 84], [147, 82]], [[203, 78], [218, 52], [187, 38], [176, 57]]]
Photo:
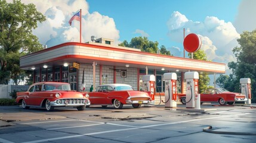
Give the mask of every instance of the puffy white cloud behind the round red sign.
[[186, 35], [189, 33], [201, 35], [201, 48], [206, 52], [208, 60], [222, 63], [235, 60], [232, 49], [238, 45], [236, 39], [240, 38], [240, 35], [232, 23], [219, 20], [217, 17], [206, 17], [203, 22], [192, 21], [178, 11], [174, 11], [167, 26], [171, 41], [183, 43], [184, 28]]

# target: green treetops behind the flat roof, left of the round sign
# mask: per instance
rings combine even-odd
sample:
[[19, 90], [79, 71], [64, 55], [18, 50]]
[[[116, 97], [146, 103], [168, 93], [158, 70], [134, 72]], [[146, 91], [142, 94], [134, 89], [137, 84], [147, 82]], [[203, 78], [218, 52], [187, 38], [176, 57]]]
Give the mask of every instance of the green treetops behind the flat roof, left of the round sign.
[[[141, 49], [141, 51], [151, 53], [157, 53], [159, 50], [157, 41], [149, 41], [149, 39], [147, 39], [146, 37], [141, 36], [132, 38], [131, 42], [129, 43], [125, 40], [124, 42], [119, 43], [119, 46]], [[167, 51], [164, 45], [161, 46], [161, 54], [171, 55], [171, 53]]]

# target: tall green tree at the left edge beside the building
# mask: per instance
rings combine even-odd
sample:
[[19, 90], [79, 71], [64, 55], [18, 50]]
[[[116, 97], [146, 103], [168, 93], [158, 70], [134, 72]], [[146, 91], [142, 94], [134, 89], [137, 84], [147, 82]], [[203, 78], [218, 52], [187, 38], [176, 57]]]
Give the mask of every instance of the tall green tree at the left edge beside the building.
[[17, 84], [18, 79], [24, 79], [19, 58], [42, 49], [32, 29], [45, 20], [34, 4], [0, 1], [0, 84], [8, 84], [10, 79]]

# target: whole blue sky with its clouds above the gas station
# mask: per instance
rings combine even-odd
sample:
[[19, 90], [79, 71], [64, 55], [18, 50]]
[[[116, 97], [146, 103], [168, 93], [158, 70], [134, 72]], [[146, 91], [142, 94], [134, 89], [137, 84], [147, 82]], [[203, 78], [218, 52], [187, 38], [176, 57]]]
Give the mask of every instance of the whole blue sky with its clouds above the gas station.
[[[7, 0], [12, 2], [12, 0]], [[47, 17], [33, 33], [48, 47], [79, 42], [79, 21], [68, 21], [82, 9], [82, 42], [91, 36], [114, 39], [115, 44], [135, 36], [158, 41], [171, 54], [183, 57], [186, 35], [201, 37], [208, 60], [235, 61], [232, 49], [245, 30], [256, 29], [255, 0], [21, 0], [33, 3]], [[187, 52], [186, 52], [187, 55]], [[227, 73], [230, 73], [226, 67]]]

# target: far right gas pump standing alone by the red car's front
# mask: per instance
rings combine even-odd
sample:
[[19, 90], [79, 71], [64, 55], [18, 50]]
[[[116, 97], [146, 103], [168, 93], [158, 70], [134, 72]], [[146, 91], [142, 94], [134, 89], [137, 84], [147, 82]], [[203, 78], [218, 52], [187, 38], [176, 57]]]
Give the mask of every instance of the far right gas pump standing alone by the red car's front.
[[240, 88], [241, 93], [245, 95], [245, 97], [248, 99], [245, 101], [245, 104], [251, 104], [251, 79], [250, 78], [242, 78], [240, 79]]

